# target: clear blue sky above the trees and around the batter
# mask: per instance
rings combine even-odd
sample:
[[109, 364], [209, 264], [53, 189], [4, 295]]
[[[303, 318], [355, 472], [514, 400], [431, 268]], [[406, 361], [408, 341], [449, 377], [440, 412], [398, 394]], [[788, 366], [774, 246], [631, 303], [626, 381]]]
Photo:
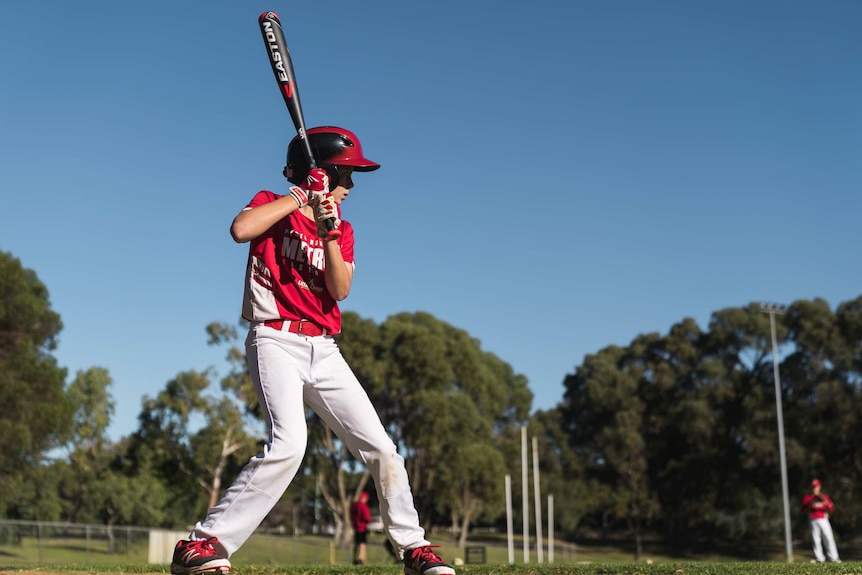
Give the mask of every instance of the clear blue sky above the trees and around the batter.
[[46, 284], [118, 439], [213, 366], [292, 125], [257, 26], [281, 14], [309, 126], [382, 164], [343, 206], [343, 308], [427, 311], [554, 407], [585, 354], [752, 301], [862, 293], [856, 0], [4, 2], [0, 250]]

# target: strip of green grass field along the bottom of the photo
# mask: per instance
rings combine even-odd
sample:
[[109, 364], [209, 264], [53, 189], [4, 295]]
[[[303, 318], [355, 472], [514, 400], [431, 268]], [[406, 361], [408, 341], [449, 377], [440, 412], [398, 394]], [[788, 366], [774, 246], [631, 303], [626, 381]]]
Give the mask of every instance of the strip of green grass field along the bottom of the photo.
[[[432, 539], [434, 539], [432, 537]], [[625, 546], [555, 545], [554, 562], [537, 561], [531, 550], [528, 564], [523, 563], [523, 548], [515, 544], [515, 564], [508, 563], [508, 548], [500, 541], [486, 540], [469, 544], [484, 548], [485, 563], [459, 564], [464, 550], [442, 542], [438, 549], [456, 564], [459, 575], [818, 575], [862, 574], [862, 562], [841, 564], [809, 563], [810, 550], [797, 549], [793, 563], [784, 560], [783, 547], [765, 558], [742, 561], [715, 551], [671, 555], [661, 547], [645, 546], [641, 561], [635, 562]], [[475, 549], [474, 549], [475, 551]], [[849, 554], [848, 554], [849, 555]], [[853, 557], [849, 557], [853, 559]], [[467, 557], [467, 559], [470, 559]], [[475, 555], [473, 555], [475, 559]], [[401, 568], [386, 553], [382, 536], [373, 536], [368, 545], [368, 565], [351, 565], [351, 549], [335, 548], [326, 537], [285, 537], [255, 535], [231, 559], [232, 575], [400, 575]], [[0, 545], [0, 573], [19, 575], [60, 575], [82, 573], [123, 575], [126, 573], [169, 573], [167, 564], [148, 564], [146, 542], [123, 546], [119, 553], [108, 553], [102, 540], [22, 537], [15, 544]]]

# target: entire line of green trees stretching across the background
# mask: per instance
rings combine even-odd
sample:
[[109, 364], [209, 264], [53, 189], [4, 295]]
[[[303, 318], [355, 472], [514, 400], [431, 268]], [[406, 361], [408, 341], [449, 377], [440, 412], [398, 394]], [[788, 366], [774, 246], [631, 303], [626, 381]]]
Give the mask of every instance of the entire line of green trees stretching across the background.
[[[862, 296], [835, 310], [799, 300], [776, 321], [793, 533], [807, 535], [798, 505], [816, 476], [836, 501], [836, 532], [850, 537], [862, 511]], [[134, 432], [109, 441], [110, 373], [57, 364], [62, 321], [47, 289], [0, 251], [0, 517], [170, 529], [203, 517], [265, 438], [244, 329], [206, 326], [225, 373], [178, 373], [143, 399]], [[464, 545], [475, 526], [505, 528], [503, 478], [518, 497], [526, 427], [559, 538], [781, 541], [770, 324], [757, 304], [589, 354], [561, 374], [559, 404], [535, 412], [523, 375], [429, 313], [377, 323], [347, 312], [339, 345], [432, 533], [447, 528]], [[331, 528], [346, 544], [350, 503], [373, 485], [310, 411], [308, 425], [303, 467], [264, 527]], [[514, 507], [516, 524], [533, 522]]]

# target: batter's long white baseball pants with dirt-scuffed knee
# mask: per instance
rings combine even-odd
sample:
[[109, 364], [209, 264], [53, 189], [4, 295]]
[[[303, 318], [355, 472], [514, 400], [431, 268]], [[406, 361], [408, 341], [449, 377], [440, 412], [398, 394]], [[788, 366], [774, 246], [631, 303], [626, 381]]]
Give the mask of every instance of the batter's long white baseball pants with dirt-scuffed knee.
[[396, 548], [428, 545], [404, 459], [335, 340], [255, 324], [246, 338], [246, 353], [269, 442], [190, 537], [218, 537], [228, 557], [246, 542], [299, 470], [308, 441], [308, 404], [371, 472], [383, 524]]

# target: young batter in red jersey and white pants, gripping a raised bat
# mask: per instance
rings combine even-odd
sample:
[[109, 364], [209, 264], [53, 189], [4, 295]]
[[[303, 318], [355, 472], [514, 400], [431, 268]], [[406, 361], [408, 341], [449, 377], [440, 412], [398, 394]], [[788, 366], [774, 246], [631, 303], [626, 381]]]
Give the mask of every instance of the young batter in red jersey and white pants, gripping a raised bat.
[[[249, 375], [269, 441], [192, 530], [177, 543], [171, 573], [227, 573], [229, 557], [275, 506], [298, 471], [308, 430], [305, 404], [371, 472], [388, 537], [407, 575], [454, 575], [425, 539], [404, 466], [367, 393], [333, 336], [341, 330], [338, 302], [353, 282], [353, 228], [339, 207], [352, 174], [380, 167], [367, 159], [353, 132], [332, 126], [307, 131], [315, 158], [338, 182], [329, 190], [323, 169], [309, 173], [299, 138], [288, 146], [284, 196], [258, 192], [234, 218], [231, 235], [250, 242], [243, 317]], [[307, 177], [306, 177], [307, 175]], [[326, 240], [325, 221], [341, 231]], [[381, 481], [385, 478], [385, 481]]]

